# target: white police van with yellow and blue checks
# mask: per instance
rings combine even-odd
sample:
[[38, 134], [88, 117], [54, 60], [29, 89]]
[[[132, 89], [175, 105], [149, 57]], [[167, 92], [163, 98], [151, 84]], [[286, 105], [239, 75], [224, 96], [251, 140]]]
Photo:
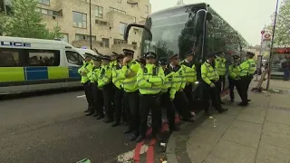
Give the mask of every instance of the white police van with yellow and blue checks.
[[83, 54], [63, 41], [0, 36], [0, 94], [81, 86]]

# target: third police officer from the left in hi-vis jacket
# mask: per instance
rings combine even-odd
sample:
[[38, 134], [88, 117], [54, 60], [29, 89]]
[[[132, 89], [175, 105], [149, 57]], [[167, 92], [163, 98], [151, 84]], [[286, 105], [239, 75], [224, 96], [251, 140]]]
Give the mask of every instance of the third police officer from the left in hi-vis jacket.
[[112, 83], [111, 83], [111, 57], [108, 55], [102, 56], [102, 69], [98, 79], [98, 87], [102, 90], [103, 103], [105, 109], [105, 123], [110, 123], [113, 120], [112, 101]]

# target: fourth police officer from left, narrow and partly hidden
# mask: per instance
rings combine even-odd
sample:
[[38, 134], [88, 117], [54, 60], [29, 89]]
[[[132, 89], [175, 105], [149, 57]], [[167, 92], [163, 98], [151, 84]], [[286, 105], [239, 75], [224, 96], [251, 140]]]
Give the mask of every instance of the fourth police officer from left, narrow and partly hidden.
[[112, 68], [112, 83], [114, 89], [114, 113], [115, 113], [115, 122], [111, 125], [116, 127], [120, 125], [121, 113], [122, 113], [122, 98], [123, 98], [123, 89], [121, 88], [122, 79], [120, 78], [121, 66], [123, 62], [123, 55], [119, 54], [116, 58], [117, 64]]

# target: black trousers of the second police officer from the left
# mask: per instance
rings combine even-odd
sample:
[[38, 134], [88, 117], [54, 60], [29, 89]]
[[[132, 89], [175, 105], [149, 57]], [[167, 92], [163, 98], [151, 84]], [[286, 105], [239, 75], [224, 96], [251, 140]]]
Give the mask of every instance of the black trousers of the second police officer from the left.
[[103, 116], [103, 95], [97, 83], [92, 83], [93, 108], [92, 113]]

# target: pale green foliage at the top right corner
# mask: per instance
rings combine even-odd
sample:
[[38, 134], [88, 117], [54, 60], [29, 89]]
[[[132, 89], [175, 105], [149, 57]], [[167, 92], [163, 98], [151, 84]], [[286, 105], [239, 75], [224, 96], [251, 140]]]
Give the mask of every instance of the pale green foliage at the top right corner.
[[[290, 46], [290, 1], [284, 1], [284, 4], [280, 6], [279, 11], [276, 17], [275, 24], [275, 37], [274, 37], [274, 46]], [[273, 32], [274, 25], [274, 16], [272, 17], [271, 24], [266, 25], [266, 31], [270, 33]]]

